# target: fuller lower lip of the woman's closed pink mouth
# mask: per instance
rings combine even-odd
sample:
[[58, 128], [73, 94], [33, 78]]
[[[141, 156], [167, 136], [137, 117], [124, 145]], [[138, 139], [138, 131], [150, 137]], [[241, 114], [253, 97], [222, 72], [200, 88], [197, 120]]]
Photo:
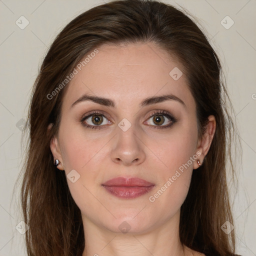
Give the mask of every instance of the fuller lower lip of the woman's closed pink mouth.
[[136, 198], [149, 192], [154, 185], [151, 186], [106, 186], [103, 187], [112, 195], [119, 198]]

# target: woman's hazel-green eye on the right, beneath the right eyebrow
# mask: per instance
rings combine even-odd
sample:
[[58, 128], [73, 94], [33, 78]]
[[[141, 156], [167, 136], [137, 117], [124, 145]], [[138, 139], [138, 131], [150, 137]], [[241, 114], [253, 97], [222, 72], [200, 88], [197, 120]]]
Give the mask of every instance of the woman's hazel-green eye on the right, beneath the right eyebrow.
[[146, 124], [152, 125], [153, 128], [168, 128], [172, 126], [174, 122], [176, 122], [176, 118], [164, 110], [157, 110], [153, 112], [148, 120], [149, 122], [146, 121]]

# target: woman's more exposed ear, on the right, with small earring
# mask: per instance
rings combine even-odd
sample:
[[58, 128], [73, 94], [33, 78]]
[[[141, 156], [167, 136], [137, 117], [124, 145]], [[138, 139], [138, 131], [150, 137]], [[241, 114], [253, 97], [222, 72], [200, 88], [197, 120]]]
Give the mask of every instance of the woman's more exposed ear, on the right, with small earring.
[[[203, 159], [205, 155], [208, 153], [213, 135], [216, 130], [216, 120], [214, 115], [209, 115], [208, 116], [208, 123], [206, 124], [205, 131], [202, 134], [201, 138], [197, 142], [197, 148], [196, 148], [196, 154], [198, 156], [198, 160], [202, 164]], [[198, 153], [200, 152], [200, 153]], [[197, 160], [194, 161], [194, 166], [193, 169], [197, 169], [200, 165], [198, 165]]]

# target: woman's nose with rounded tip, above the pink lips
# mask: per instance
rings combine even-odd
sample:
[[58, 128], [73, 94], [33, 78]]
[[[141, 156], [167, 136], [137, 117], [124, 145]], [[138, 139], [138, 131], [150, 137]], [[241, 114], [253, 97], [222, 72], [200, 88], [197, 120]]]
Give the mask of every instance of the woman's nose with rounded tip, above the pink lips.
[[113, 138], [111, 159], [113, 162], [129, 166], [138, 165], [145, 160], [145, 145], [134, 125], [123, 131], [117, 128], [117, 134]]

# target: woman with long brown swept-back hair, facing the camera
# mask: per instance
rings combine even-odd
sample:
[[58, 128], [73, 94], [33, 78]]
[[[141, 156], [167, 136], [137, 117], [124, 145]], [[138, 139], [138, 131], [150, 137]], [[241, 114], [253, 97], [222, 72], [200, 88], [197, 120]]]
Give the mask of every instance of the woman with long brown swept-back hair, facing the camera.
[[171, 5], [111, 1], [67, 24], [30, 103], [28, 255], [234, 255], [220, 77]]

